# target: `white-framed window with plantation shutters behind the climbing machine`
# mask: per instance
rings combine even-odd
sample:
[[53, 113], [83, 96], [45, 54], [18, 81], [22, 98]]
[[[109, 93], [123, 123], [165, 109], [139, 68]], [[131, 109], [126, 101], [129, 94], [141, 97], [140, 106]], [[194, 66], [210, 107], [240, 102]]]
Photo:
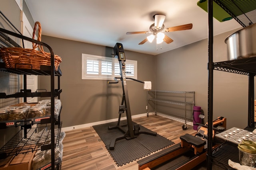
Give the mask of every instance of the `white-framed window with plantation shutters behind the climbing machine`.
[[[137, 79], [137, 61], [126, 60], [125, 72], [127, 77]], [[114, 77], [120, 77], [118, 59], [82, 54], [82, 79], [113, 80]]]

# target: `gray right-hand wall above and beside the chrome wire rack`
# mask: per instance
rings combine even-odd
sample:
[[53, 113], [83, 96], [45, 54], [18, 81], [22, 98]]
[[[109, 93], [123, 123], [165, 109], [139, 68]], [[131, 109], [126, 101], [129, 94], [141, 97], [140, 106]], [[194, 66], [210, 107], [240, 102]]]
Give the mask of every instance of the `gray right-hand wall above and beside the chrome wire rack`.
[[[236, 30], [214, 36], [214, 62], [226, 61], [224, 40]], [[208, 40], [156, 57], [158, 90], [195, 91], [196, 106], [208, 114]], [[213, 118], [227, 118], [227, 127], [244, 128], [248, 117], [248, 76], [214, 70]], [[159, 108], [160, 109], [160, 108]], [[162, 111], [162, 110], [160, 110]], [[166, 110], [164, 110], [166, 111]]]

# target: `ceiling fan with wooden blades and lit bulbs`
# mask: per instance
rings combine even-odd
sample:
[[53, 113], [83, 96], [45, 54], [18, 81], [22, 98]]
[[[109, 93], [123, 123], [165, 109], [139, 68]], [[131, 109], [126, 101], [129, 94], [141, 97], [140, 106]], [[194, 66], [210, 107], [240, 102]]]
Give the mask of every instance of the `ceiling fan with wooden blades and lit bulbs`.
[[155, 23], [150, 25], [149, 30], [150, 31], [137, 31], [137, 32], [127, 32], [126, 34], [140, 34], [140, 33], [152, 33], [149, 35], [146, 39], [141, 41], [139, 45], [142, 45], [146, 43], [146, 41], [149, 41], [150, 43], [154, 40], [156, 37], [156, 43], [162, 43], [163, 41], [166, 42], [167, 44], [172, 43], [173, 40], [165, 35], [163, 32], [172, 32], [172, 31], [181, 31], [181, 30], [186, 30], [186, 29], [191, 29], [192, 28], [192, 23], [188, 23], [185, 25], [179, 25], [175, 27], [168, 27], [164, 29], [164, 19], [165, 15], [160, 15], [156, 14], [153, 16]]

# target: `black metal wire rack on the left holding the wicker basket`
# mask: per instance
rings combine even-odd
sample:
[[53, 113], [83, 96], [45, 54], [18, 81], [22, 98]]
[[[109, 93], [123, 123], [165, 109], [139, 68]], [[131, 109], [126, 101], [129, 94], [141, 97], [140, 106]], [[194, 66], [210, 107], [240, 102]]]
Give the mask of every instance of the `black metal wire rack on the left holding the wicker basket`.
[[[2, 12], [1, 12], [2, 14]], [[3, 15], [3, 14], [2, 14]], [[47, 117], [43, 117], [40, 121], [34, 121], [34, 119], [24, 119], [24, 120], [15, 120], [11, 121], [1, 121], [0, 129], [5, 129], [11, 126], [21, 126], [21, 130], [12, 137], [8, 143], [0, 149], [0, 158], [6, 158], [10, 155], [22, 154], [24, 152], [35, 151], [35, 150], [48, 150], [51, 149], [51, 164], [46, 169], [60, 169], [61, 160], [55, 160], [54, 150], [58, 146], [58, 138], [60, 136], [60, 130], [62, 122], [60, 121], [60, 113], [56, 116], [54, 113], [54, 100], [55, 97], [60, 99], [60, 76], [62, 72], [58, 67], [58, 70], [55, 70], [54, 67], [54, 53], [52, 48], [41, 41], [31, 39], [29, 37], [23, 36], [20, 33], [15, 33], [3, 28], [0, 28], [0, 43], [6, 45], [6, 47], [21, 47], [12, 39], [16, 37], [24, 40], [30, 41], [46, 47], [50, 51], [51, 55], [51, 65], [50, 66], [41, 66], [40, 70], [34, 69], [19, 69], [19, 68], [6, 68], [3, 62], [0, 62], [0, 71], [10, 74], [20, 74], [24, 75], [24, 89], [21, 92], [15, 94], [6, 94], [0, 93], [0, 98], [24, 98], [26, 102], [27, 97], [50, 97], [51, 101], [51, 114]], [[4, 42], [4, 43], [3, 43]], [[0, 48], [3, 46], [0, 46]], [[50, 92], [31, 92], [31, 90], [26, 89], [26, 75], [45, 75], [50, 76]], [[58, 76], [58, 89], [54, 89], [54, 78]], [[61, 109], [60, 109], [61, 110]], [[31, 128], [33, 124], [41, 124], [39, 127]], [[42, 129], [43, 128], [43, 129]], [[46, 130], [47, 129], [47, 130]], [[50, 142], [50, 143], [47, 143]]]

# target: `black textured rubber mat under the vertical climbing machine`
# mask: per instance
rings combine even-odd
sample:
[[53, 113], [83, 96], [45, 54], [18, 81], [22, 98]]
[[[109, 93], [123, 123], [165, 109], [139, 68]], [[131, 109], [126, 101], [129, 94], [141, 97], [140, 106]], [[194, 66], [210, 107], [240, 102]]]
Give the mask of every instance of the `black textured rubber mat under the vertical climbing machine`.
[[[124, 125], [125, 123], [126, 120], [121, 121], [120, 125]], [[108, 127], [112, 127], [115, 125], [117, 125], [117, 122], [95, 125], [93, 126], [93, 128], [106, 145], [108, 152], [111, 154], [117, 166], [128, 164], [129, 162], [133, 162], [134, 160], [137, 160], [153, 152], [156, 152], [157, 150], [161, 150], [174, 144], [172, 141], [158, 134], [156, 136], [140, 134], [134, 139], [120, 139], [116, 141], [114, 150], [110, 150], [109, 145], [112, 139], [124, 135], [119, 129], [108, 130]], [[150, 130], [140, 125], [140, 131]]]

